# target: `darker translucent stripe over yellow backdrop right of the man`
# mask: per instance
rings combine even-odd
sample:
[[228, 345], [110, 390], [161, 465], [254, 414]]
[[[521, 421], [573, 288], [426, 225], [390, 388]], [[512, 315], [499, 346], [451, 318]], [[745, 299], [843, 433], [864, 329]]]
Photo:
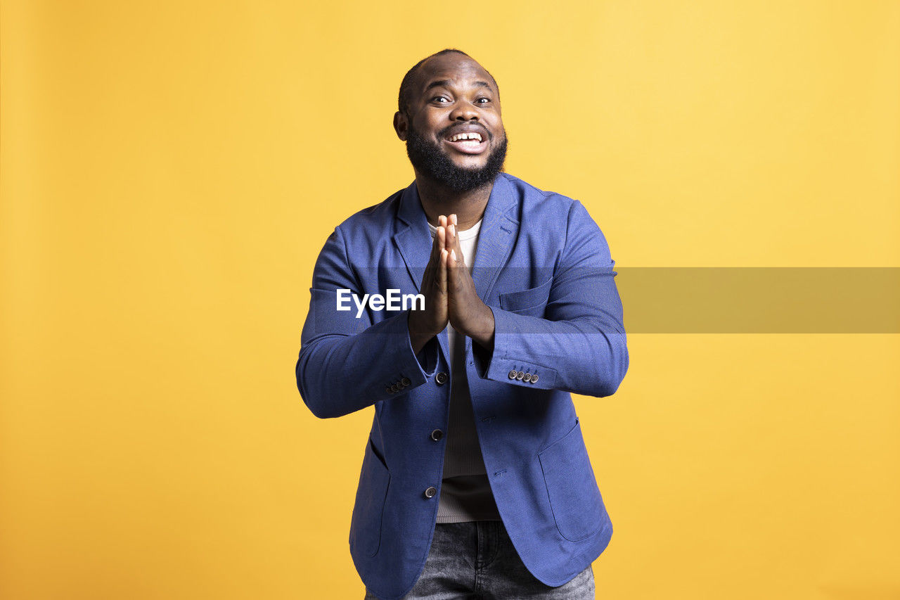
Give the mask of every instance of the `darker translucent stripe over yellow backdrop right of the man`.
[[619, 268], [630, 333], [900, 333], [900, 268]]

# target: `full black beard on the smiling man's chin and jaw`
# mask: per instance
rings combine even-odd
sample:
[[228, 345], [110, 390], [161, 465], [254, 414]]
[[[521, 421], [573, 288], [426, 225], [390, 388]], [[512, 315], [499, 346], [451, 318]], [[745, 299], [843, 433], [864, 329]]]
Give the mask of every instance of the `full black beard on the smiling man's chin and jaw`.
[[503, 170], [506, 160], [507, 136], [503, 132], [503, 141], [491, 150], [487, 162], [481, 168], [458, 167], [433, 141], [419, 135], [410, 127], [406, 140], [406, 153], [410, 157], [412, 167], [419, 173], [437, 181], [453, 192], [471, 192], [493, 182], [494, 177]]

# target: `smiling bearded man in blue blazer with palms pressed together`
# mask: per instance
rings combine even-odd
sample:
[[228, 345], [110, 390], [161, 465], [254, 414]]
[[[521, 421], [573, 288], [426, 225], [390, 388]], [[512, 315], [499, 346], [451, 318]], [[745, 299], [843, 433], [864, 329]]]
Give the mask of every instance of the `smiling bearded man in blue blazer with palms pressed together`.
[[[329, 237], [296, 369], [319, 417], [375, 406], [350, 527], [366, 597], [592, 598], [612, 526], [569, 393], [611, 395], [628, 366], [607, 243], [500, 172], [500, 91], [464, 52], [411, 68], [398, 108], [415, 181]], [[419, 302], [366, 305], [392, 290]]]

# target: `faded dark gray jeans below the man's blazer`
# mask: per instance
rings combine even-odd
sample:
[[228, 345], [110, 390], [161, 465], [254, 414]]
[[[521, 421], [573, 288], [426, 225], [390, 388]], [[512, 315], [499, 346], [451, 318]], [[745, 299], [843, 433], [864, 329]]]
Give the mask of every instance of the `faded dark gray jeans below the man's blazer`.
[[[425, 570], [403, 600], [593, 600], [588, 565], [569, 583], [545, 586], [518, 558], [500, 521], [437, 523]], [[366, 589], [365, 600], [378, 600]]]

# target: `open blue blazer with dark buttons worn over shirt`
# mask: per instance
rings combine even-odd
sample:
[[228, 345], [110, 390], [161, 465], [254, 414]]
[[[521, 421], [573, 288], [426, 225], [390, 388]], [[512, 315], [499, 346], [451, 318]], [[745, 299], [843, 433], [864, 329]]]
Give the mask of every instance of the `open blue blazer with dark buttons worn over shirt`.
[[[446, 431], [454, 373], [446, 330], [417, 356], [408, 311], [366, 308], [357, 318], [356, 305], [337, 310], [337, 290], [417, 294], [431, 244], [415, 182], [341, 223], [313, 271], [296, 368], [316, 416], [375, 407], [350, 552], [385, 600], [409, 592], [428, 557], [446, 442], [431, 432]], [[548, 586], [587, 568], [612, 535], [570, 392], [611, 395], [625, 377], [615, 275], [581, 203], [497, 177], [473, 265], [494, 314], [494, 346], [466, 339], [465, 368], [500, 516], [519, 557]]]

